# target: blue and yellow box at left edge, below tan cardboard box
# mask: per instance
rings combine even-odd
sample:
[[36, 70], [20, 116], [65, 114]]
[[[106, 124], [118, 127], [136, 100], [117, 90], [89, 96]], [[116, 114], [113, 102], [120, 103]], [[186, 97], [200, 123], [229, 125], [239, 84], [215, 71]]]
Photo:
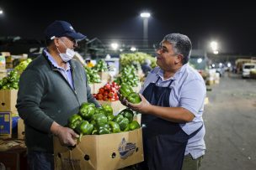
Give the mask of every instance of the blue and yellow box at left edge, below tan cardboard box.
[[17, 112], [0, 112], [0, 138], [11, 138], [18, 132]]

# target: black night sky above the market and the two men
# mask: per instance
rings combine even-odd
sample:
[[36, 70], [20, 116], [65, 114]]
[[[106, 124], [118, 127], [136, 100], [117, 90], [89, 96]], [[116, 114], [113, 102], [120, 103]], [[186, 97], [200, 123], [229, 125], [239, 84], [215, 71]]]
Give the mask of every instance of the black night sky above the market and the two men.
[[240, 1], [13, 1], [0, 0], [0, 36], [44, 39], [45, 27], [56, 19], [72, 23], [88, 39], [141, 40], [140, 13], [152, 13], [148, 39], [184, 33], [195, 49], [219, 43], [220, 53], [256, 54], [256, 7]]

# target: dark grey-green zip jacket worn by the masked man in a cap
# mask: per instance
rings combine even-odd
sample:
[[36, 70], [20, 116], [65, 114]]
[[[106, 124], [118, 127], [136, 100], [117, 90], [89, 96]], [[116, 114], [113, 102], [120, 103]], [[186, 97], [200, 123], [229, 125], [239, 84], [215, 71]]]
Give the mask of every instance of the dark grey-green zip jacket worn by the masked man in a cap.
[[45, 54], [34, 59], [19, 79], [17, 109], [24, 119], [25, 142], [29, 150], [53, 152], [51, 124], [67, 125], [83, 102], [93, 102], [82, 64], [70, 61], [74, 90]]

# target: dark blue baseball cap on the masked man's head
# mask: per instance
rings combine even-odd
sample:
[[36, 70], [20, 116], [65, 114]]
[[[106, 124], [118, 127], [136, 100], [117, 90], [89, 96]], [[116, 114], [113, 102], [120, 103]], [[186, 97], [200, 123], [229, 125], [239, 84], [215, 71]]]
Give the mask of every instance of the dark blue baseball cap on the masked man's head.
[[77, 33], [70, 23], [56, 20], [45, 29], [45, 39], [55, 39], [59, 37], [70, 37], [76, 40], [86, 38], [82, 33]]

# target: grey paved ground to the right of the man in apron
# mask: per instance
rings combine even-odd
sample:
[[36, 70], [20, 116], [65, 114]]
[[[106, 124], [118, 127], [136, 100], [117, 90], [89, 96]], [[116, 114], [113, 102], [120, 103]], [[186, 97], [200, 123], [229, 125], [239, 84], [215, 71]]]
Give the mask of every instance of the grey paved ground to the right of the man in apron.
[[207, 92], [201, 170], [256, 169], [256, 80], [221, 77]]

